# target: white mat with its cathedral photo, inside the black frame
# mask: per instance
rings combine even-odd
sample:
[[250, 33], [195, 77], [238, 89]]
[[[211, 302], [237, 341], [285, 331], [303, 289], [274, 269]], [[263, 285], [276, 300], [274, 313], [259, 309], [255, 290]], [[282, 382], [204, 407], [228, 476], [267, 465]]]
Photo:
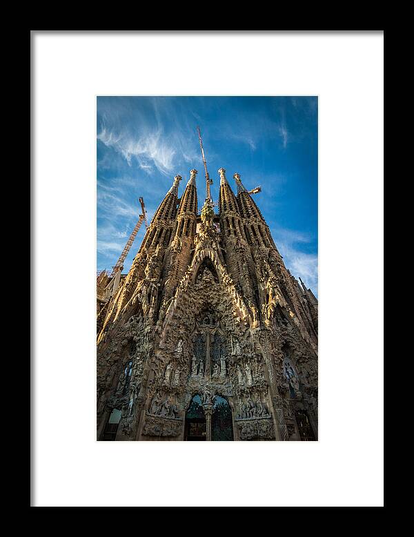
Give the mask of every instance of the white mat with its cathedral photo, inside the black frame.
[[30, 35], [32, 507], [383, 507], [384, 31]]

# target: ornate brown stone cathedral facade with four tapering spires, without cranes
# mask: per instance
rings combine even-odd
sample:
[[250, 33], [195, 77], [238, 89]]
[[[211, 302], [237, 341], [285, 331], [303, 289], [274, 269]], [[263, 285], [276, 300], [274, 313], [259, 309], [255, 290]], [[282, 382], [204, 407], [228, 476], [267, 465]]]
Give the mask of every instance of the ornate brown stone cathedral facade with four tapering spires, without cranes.
[[252, 195], [177, 175], [98, 315], [97, 440], [317, 440], [317, 300]]

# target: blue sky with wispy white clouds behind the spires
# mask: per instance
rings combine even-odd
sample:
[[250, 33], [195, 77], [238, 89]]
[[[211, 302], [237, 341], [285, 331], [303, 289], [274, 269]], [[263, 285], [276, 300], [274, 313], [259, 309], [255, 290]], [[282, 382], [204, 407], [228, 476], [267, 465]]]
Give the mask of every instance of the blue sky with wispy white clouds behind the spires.
[[[151, 219], [173, 178], [196, 168], [199, 206], [204, 168], [217, 201], [219, 175], [233, 173], [254, 196], [286, 267], [317, 295], [317, 97], [97, 97], [97, 270], [111, 270], [139, 216]], [[124, 263], [144, 237], [141, 226]]]

